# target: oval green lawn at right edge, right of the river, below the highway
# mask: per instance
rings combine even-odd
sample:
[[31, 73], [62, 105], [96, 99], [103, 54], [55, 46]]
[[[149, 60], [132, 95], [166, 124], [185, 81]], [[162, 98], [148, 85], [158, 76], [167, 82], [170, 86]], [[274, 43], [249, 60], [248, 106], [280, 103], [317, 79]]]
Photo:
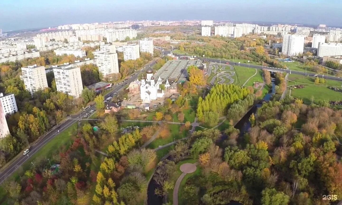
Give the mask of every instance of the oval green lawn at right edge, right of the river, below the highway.
[[[289, 94], [289, 91], [288, 91]], [[342, 93], [333, 91], [324, 86], [305, 86], [304, 88], [294, 88], [291, 90], [291, 96], [303, 99], [305, 103], [311, 103], [312, 97], [313, 101], [317, 102], [319, 100], [333, 100], [341, 101]]]

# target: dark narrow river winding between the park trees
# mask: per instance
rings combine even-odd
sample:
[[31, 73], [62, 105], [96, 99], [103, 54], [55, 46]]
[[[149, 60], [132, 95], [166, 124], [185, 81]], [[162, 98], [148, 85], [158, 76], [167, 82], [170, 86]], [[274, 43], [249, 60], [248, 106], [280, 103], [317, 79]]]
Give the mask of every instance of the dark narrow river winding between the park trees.
[[[263, 98], [263, 101], [269, 101], [272, 97], [272, 95], [275, 93], [275, 84], [272, 82], [272, 90], [269, 91]], [[251, 124], [249, 122], [249, 117], [252, 115], [252, 113], [257, 112], [257, 109], [262, 106], [261, 102], [258, 102], [255, 104], [252, 109], [250, 109], [244, 117], [241, 118], [241, 120], [234, 126], [235, 128], [240, 130], [240, 137], [244, 135], [246, 131], [251, 127]], [[163, 198], [159, 195], [154, 194], [154, 190], [159, 187], [159, 184], [155, 180], [151, 180], [148, 184], [147, 188], [147, 205], [162, 205], [163, 204]], [[172, 196], [168, 196], [172, 197]], [[227, 205], [242, 205], [239, 202], [231, 201]]]

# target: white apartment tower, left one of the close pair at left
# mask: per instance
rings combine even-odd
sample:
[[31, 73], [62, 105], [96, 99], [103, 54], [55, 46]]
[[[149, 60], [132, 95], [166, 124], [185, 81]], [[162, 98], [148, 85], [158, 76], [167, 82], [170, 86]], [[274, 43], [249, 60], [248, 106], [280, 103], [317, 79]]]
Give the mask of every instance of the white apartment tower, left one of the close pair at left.
[[22, 67], [22, 74], [23, 75], [20, 76], [20, 78], [23, 79], [25, 89], [30, 92], [31, 95], [38, 90], [48, 87], [44, 66], [37, 66], [37, 64], [34, 64], [32, 66]]

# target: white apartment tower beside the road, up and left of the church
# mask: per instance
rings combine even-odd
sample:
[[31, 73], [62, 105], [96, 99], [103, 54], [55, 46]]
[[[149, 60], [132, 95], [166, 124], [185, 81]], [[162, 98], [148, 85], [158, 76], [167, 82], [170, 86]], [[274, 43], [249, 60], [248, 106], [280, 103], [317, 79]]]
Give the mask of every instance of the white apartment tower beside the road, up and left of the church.
[[[138, 47], [138, 50], [139, 50], [139, 47]], [[119, 72], [118, 54], [117, 53], [97, 54], [97, 67], [98, 67], [98, 72], [102, 76], [102, 79], [111, 80], [112, 74]]]

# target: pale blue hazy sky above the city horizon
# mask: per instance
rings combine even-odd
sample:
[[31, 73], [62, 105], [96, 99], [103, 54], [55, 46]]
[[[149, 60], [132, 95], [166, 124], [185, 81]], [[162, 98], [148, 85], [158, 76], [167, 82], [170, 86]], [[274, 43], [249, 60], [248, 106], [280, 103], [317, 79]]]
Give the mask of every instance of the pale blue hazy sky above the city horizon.
[[147, 19], [264, 21], [342, 27], [341, 9], [341, 0], [0, 0], [0, 28], [7, 31]]

